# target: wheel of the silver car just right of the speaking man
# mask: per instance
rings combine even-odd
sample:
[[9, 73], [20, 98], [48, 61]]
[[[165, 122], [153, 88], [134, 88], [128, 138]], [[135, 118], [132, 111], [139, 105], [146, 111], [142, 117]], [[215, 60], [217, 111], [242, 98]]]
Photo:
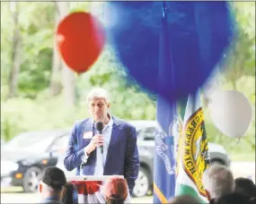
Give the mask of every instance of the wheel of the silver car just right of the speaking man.
[[133, 189], [134, 197], [146, 196], [149, 190], [149, 174], [148, 171], [140, 167], [137, 175], [137, 180], [135, 181], [135, 187]]

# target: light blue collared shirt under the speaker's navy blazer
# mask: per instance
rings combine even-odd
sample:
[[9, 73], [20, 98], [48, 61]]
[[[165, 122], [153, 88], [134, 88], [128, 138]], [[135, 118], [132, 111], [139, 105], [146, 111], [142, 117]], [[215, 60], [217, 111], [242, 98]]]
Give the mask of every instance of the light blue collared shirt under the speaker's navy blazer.
[[[93, 122], [93, 132], [97, 132], [96, 130], [96, 123], [92, 120]], [[113, 126], [113, 118], [110, 115], [110, 121], [109, 123], [104, 126], [102, 130], [102, 135], [103, 135], [103, 154], [101, 152], [100, 148], [96, 148], [96, 164], [94, 167], [94, 175], [103, 175], [104, 172], [104, 166], [106, 163], [106, 158], [110, 146], [110, 139], [111, 139], [111, 132], [112, 132], [112, 126]], [[86, 148], [84, 148], [84, 159], [87, 160], [89, 156], [87, 156], [86, 153]]]

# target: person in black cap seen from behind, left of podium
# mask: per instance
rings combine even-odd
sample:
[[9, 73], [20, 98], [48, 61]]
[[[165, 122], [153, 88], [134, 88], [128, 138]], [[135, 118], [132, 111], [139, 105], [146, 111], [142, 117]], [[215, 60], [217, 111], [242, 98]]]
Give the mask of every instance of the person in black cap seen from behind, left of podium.
[[[66, 183], [64, 172], [57, 167], [45, 169], [39, 184], [40, 203], [73, 204], [73, 188]], [[61, 200], [65, 198], [65, 201]]]

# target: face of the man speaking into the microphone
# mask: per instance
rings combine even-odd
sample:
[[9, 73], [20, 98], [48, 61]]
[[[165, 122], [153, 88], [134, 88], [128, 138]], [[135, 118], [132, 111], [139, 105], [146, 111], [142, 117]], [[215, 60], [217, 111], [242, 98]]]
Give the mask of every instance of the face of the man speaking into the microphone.
[[109, 107], [110, 103], [107, 103], [104, 98], [94, 98], [89, 101], [89, 111], [95, 122], [104, 122], [108, 116]]

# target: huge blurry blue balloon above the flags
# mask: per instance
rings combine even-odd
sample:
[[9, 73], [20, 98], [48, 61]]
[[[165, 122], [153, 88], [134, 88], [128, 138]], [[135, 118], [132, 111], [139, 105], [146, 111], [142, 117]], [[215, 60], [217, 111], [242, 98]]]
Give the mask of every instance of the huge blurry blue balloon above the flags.
[[139, 85], [168, 100], [187, 97], [202, 86], [233, 39], [229, 3], [166, 2], [174, 77], [159, 77], [163, 2], [107, 4], [115, 13], [108, 21], [115, 24], [106, 29], [120, 63]]

